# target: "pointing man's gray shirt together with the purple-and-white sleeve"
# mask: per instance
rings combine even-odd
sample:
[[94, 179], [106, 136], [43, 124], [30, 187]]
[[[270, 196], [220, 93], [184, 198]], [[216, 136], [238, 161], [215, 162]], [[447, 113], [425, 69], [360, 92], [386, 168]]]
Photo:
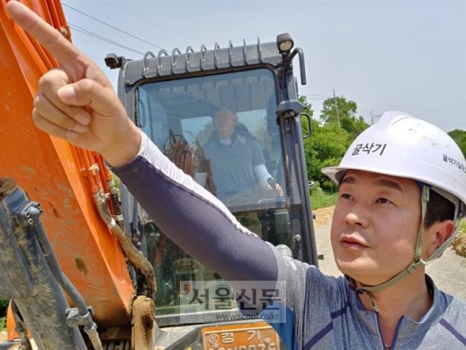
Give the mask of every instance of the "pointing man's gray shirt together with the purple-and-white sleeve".
[[[289, 350], [384, 349], [377, 313], [364, 310], [345, 277], [326, 276], [283, 256], [243, 228], [147, 136], [138, 156], [113, 171], [168, 237], [226, 280], [286, 282], [286, 322], [273, 327]], [[466, 349], [466, 302], [439, 291], [427, 276], [426, 283], [432, 308], [419, 322], [399, 319], [391, 350]]]

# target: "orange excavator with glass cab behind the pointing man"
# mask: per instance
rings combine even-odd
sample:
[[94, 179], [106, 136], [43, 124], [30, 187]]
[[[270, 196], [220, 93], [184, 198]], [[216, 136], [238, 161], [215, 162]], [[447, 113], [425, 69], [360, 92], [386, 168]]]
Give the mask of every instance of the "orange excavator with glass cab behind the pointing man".
[[[71, 40], [58, 0], [21, 1]], [[0, 0], [0, 298], [10, 305], [0, 349], [284, 349], [270, 324], [238, 311], [219, 274], [157, 228], [103, 157], [34, 126], [38, 81], [58, 63], [5, 5]], [[311, 124], [293, 70], [297, 58], [305, 85], [304, 54], [293, 47], [282, 33], [272, 42], [141, 58], [110, 53], [105, 63], [119, 69], [131, 121], [219, 198], [222, 169], [203, 148], [214, 113], [235, 112], [238, 132], [260, 146], [270, 187], [238, 188], [221, 201], [247, 229], [318, 265], [303, 148], [309, 132], [301, 129]]]

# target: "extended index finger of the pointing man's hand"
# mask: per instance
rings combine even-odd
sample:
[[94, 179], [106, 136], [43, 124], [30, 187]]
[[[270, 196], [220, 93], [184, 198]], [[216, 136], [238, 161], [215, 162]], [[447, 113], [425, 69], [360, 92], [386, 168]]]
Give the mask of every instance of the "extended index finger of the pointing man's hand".
[[9, 1], [6, 4], [8, 13], [14, 22], [18, 23], [24, 31], [40, 42], [49, 53], [64, 64], [67, 61], [82, 55], [81, 51], [69, 42], [59, 31], [45, 22], [37, 13], [19, 1]]

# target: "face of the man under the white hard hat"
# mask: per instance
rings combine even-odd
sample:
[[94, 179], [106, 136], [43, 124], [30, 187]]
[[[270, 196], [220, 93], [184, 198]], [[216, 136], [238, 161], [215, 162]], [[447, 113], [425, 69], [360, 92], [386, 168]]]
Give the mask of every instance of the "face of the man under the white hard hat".
[[414, 180], [347, 171], [331, 229], [336, 265], [365, 285], [389, 280], [413, 261], [420, 216]]

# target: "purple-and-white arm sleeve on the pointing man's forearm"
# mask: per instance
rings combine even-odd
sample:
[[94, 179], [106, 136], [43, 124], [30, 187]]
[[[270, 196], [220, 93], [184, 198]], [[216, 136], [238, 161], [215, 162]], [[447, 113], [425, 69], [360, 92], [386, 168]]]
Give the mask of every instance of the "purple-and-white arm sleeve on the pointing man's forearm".
[[228, 281], [276, 281], [273, 248], [143, 136], [139, 155], [112, 169], [157, 227]]

